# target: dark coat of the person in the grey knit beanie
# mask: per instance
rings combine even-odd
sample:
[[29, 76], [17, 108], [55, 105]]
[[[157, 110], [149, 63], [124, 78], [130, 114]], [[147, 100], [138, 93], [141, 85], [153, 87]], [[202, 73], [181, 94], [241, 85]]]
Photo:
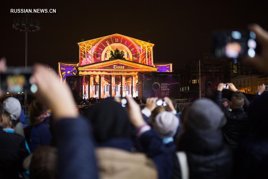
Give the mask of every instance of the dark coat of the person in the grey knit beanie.
[[[230, 148], [224, 144], [221, 131], [186, 131], [179, 141], [179, 150], [187, 155], [190, 179], [229, 179], [233, 159]], [[181, 178], [176, 156], [172, 178]]]

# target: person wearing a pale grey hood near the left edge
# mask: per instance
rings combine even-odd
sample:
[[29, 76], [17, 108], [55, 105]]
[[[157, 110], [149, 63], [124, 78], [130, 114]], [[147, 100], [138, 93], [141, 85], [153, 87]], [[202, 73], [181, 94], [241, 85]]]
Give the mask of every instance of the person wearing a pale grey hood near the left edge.
[[9, 97], [3, 102], [4, 110], [7, 111], [12, 119], [12, 122], [15, 127], [15, 133], [20, 134], [22, 137], [24, 136], [24, 130], [22, 123], [20, 123], [20, 115], [21, 115], [21, 103], [19, 100], [13, 97]]

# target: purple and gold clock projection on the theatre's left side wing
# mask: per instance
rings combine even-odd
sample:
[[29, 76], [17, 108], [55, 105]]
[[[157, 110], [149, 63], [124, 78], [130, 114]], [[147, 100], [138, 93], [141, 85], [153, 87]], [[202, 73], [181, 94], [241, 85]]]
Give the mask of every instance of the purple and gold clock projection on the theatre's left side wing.
[[66, 82], [66, 76], [76, 76], [76, 67], [77, 64], [66, 64], [59, 63], [59, 74], [62, 79], [63, 84]]

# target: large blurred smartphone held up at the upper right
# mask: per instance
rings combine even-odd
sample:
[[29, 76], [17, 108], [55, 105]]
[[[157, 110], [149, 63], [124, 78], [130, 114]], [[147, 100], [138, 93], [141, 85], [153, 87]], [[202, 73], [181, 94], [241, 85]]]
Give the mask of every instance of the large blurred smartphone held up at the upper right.
[[256, 34], [247, 30], [224, 30], [212, 33], [213, 53], [219, 58], [256, 56], [258, 45]]

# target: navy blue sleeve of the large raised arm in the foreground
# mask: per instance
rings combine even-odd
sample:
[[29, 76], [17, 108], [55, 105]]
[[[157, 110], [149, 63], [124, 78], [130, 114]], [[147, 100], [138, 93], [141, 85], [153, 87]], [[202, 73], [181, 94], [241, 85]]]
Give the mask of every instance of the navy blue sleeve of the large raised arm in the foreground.
[[79, 118], [59, 120], [54, 128], [58, 147], [58, 178], [98, 178], [90, 123]]

